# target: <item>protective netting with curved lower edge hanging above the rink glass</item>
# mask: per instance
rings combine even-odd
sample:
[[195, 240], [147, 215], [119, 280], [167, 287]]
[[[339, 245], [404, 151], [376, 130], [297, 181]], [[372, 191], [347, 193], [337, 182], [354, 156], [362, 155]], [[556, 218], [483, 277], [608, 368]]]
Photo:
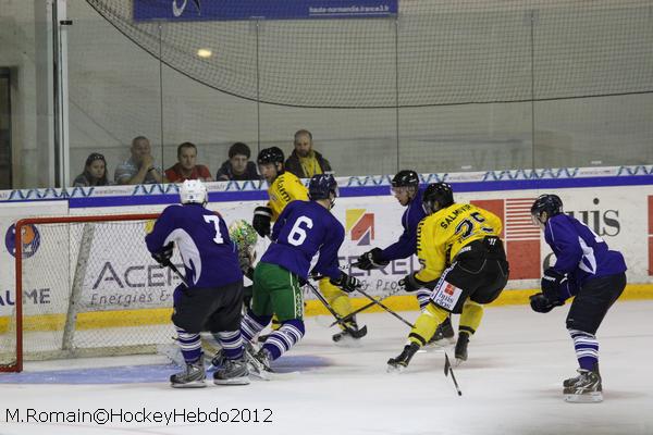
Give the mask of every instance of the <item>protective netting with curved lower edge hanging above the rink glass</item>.
[[144, 1], [87, 2], [182, 74], [273, 104], [409, 108], [653, 92], [648, 0], [401, 0], [398, 15], [384, 18], [201, 22], [134, 21]]

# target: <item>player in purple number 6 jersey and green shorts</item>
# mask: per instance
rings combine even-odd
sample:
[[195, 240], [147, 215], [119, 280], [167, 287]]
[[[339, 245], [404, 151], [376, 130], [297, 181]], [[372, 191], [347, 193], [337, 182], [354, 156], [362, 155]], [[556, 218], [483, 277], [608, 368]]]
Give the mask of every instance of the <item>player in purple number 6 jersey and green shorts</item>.
[[350, 293], [360, 283], [338, 269], [337, 251], [345, 238], [343, 225], [330, 210], [337, 197], [332, 175], [313, 175], [308, 186], [309, 201], [289, 202], [272, 228], [272, 244], [254, 272], [251, 308], [243, 318], [242, 333], [251, 340], [276, 314], [281, 327], [273, 331], [260, 350], [250, 358], [250, 373], [266, 378], [270, 361], [286, 352], [304, 336], [301, 285], [308, 279], [312, 258], [319, 259], [311, 274]]

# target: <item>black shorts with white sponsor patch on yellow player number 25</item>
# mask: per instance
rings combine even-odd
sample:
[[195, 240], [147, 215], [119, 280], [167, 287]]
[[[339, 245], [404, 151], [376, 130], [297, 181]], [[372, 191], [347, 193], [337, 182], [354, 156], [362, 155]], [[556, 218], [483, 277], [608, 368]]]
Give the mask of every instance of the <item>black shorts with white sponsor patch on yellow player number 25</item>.
[[492, 302], [508, 283], [508, 262], [500, 238], [486, 237], [465, 248], [442, 273], [431, 295], [432, 303], [453, 313], [463, 311], [467, 298]]

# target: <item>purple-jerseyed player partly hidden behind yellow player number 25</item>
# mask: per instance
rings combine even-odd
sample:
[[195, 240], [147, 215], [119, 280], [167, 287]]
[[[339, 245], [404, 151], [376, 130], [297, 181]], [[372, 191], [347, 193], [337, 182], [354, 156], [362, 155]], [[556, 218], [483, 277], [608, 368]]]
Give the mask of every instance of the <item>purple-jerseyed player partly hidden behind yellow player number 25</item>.
[[[392, 178], [391, 191], [397, 201], [399, 201], [399, 204], [406, 208], [406, 211], [402, 215], [404, 233], [402, 233], [397, 241], [385, 249], [372, 248], [358, 257], [358, 260], [353, 265], [364, 271], [383, 269], [392, 260], [405, 259], [417, 252], [417, 225], [427, 215], [422, 208], [423, 189], [419, 188], [419, 175], [417, 175], [417, 172], [409, 170], [397, 172]], [[420, 288], [417, 290], [417, 302], [420, 310], [423, 310], [429, 304], [431, 291], [430, 288]], [[438, 326], [435, 334], [433, 334], [429, 343], [452, 343], [454, 335], [451, 316], [448, 316]]]

